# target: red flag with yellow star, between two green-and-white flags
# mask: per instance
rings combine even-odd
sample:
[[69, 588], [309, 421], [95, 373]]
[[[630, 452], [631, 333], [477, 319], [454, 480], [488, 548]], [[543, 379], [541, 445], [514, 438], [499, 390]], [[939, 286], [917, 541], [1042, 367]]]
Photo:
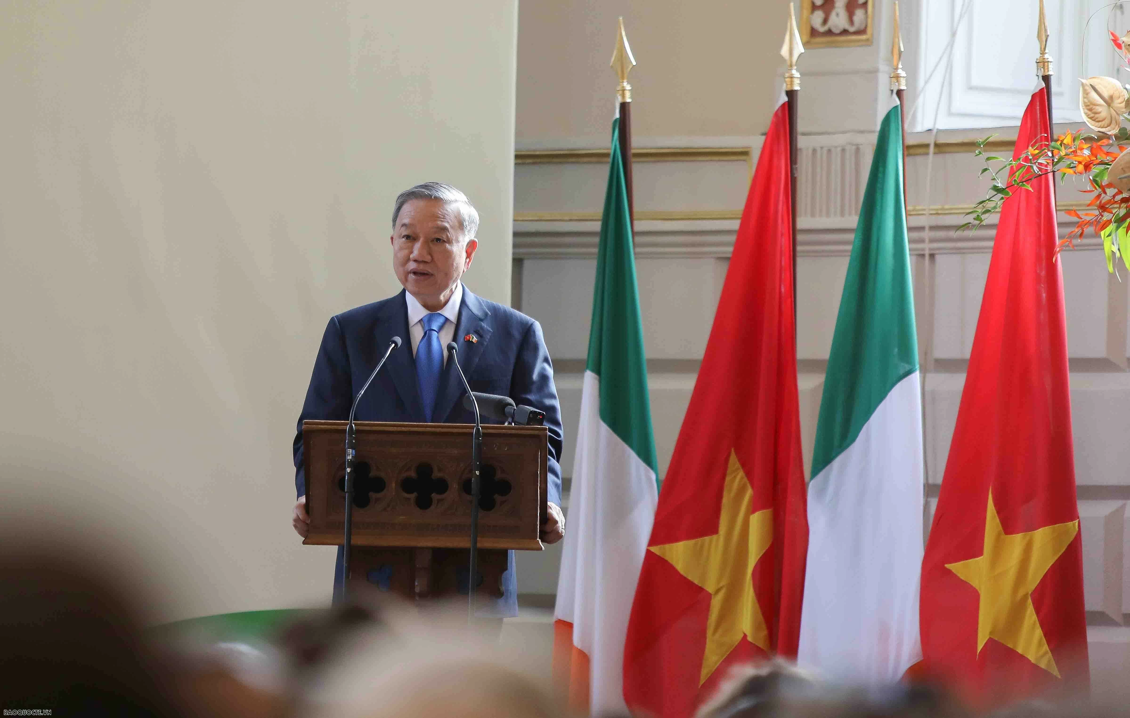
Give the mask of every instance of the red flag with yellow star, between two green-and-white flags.
[[797, 654], [808, 519], [789, 175], [782, 104], [636, 586], [624, 647], [636, 715], [689, 716], [733, 664]]

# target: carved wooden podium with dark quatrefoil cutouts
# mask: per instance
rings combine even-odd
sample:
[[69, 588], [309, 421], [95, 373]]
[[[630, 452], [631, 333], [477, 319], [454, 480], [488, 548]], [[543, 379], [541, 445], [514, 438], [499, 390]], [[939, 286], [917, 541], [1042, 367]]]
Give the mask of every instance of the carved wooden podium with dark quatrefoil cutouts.
[[[467, 593], [471, 518], [471, 424], [357, 421], [350, 586], [425, 601]], [[341, 545], [345, 421], [304, 421], [303, 543]], [[479, 496], [480, 596], [502, 595], [506, 550], [541, 551], [548, 430], [483, 427]]]

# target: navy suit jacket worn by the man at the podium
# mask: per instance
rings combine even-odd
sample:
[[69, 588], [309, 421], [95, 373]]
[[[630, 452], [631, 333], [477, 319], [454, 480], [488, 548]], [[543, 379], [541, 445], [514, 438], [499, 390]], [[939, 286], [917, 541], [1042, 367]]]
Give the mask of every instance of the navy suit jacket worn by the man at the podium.
[[[479, 341], [463, 341], [468, 334], [473, 334]], [[403, 345], [393, 350], [384, 368], [365, 391], [355, 418], [357, 421], [425, 421], [416, 382], [416, 360], [408, 335], [405, 291], [331, 317], [314, 360], [314, 373], [294, 438], [297, 496], [306, 493], [302, 422], [307, 419], [347, 420], [353, 397], [360, 391], [393, 336], [400, 336]], [[558, 461], [562, 453], [562, 417], [554, 386], [554, 368], [541, 326], [521, 312], [475, 296], [464, 284], [454, 341], [459, 344], [459, 364], [471, 391], [510, 396], [516, 404], [546, 412], [545, 426], [549, 429], [547, 499], [560, 506], [562, 470]], [[440, 377], [433, 420], [473, 423], [473, 413], [464, 409], [461, 401], [464, 393], [449, 358]], [[488, 423], [486, 419], [484, 422]], [[336, 595], [341, 584], [341, 555], [339, 549]], [[513, 551], [510, 552], [508, 564], [503, 575], [503, 597], [496, 602], [497, 605], [479, 602], [481, 615], [518, 614]]]

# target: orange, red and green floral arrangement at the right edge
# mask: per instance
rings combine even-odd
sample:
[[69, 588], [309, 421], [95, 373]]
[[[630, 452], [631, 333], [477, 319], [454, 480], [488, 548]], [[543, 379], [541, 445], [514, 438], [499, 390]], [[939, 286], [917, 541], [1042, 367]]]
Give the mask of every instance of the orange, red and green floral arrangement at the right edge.
[[[1122, 37], [1111, 33], [1111, 44], [1130, 72], [1130, 33]], [[1074, 175], [1086, 181], [1080, 191], [1090, 200], [1083, 212], [1066, 211], [1078, 224], [1058, 249], [1074, 247], [1074, 239], [1089, 229], [1103, 240], [1107, 270], [1113, 272], [1119, 259], [1130, 269], [1130, 130], [1123, 125], [1130, 121], [1130, 86], [1110, 77], [1083, 80], [1079, 110], [1092, 132], [1067, 132], [1052, 141], [1042, 137], [1014, 159], [985, 155], [992, 137], [977, 140], [973, 154], [983, 158], [981, 175], [990, 175], [991, 184], [986, 196], [967, 212], [972, 219], [958, 231], [980, 227], [1014, 191], [1031, 190], [1036, 177], [1059, 175], [1062, 183]]]

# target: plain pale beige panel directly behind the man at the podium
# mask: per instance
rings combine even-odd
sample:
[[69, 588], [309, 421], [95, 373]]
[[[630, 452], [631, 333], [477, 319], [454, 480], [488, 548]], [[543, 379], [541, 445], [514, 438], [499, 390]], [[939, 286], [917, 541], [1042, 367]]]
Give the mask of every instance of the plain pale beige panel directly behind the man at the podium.
[[111, 527], [158, 618], [328, 598], [289, 526], [318, 343], [399, 289], [425, 180], [479, 207], [468, 283], [508, 301], [515, 35], [515, 0], [9, 3], [0, 517]]

